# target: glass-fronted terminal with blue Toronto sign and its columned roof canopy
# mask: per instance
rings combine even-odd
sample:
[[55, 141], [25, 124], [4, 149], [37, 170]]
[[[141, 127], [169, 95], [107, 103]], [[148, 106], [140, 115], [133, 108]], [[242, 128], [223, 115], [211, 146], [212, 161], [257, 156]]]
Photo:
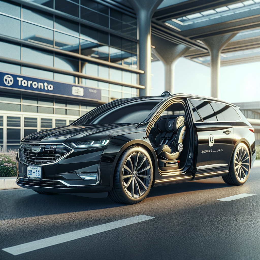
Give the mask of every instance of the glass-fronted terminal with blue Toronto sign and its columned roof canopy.
[[151, 95], [152, 59], [171, 93], [179, 57], [210, 66], [218, 98], [220, 66], [259, 61], [259, 16], [260, 0], [0, 0], [1, 151], [112, 100]]

